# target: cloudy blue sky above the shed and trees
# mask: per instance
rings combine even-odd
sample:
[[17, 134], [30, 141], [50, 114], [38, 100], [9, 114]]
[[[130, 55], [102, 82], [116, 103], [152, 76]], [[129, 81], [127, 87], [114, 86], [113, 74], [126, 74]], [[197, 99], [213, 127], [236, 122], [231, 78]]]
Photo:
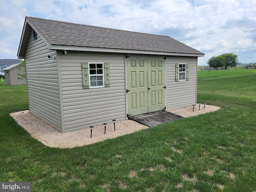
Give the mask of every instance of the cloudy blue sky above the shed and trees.
[[26, 16], [170, 36], [212, 56], [256, 62], [256, 0], [1, 0], [0, 59], [17, 59]]

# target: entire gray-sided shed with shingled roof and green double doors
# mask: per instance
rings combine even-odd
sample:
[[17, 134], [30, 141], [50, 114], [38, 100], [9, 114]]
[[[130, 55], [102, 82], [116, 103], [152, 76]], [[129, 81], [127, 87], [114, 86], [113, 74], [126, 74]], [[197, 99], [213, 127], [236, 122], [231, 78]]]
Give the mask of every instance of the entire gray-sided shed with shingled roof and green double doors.
[[26, 17], [30, 112], [60, 132], [196, 103], [204, 54], [168, 36]]

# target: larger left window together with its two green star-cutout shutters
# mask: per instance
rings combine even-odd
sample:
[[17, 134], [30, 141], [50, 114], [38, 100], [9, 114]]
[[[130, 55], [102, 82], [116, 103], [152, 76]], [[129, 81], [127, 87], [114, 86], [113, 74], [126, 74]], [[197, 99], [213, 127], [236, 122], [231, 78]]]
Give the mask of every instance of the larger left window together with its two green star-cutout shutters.
[[110, 86], [109, 63], [82, 63], [83, 88], [102, 88]]

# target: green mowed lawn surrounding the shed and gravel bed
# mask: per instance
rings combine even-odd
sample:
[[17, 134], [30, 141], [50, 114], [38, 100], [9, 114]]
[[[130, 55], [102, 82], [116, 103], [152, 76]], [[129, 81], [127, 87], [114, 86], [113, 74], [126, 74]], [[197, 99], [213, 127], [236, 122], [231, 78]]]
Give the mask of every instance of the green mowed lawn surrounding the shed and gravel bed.
[[33, 192], [255, 191], [256, 70], [223, 71], [198, 72], [198, 102], [220, 110], [71, 149], [30, 138], [9, 116], [28, 109], [26, 86], [0, 86], [0, 181]]

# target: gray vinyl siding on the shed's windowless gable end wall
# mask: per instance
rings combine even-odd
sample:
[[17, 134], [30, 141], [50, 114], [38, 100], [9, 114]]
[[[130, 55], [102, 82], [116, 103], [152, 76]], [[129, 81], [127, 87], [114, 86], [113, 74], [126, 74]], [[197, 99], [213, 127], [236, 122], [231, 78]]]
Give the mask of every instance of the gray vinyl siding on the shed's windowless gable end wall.
[[25, 54], [30, 113], [62, 131], [57, 63], [48, 58], [54, 54], [40, 36], [33, 40], [31, 32]]

